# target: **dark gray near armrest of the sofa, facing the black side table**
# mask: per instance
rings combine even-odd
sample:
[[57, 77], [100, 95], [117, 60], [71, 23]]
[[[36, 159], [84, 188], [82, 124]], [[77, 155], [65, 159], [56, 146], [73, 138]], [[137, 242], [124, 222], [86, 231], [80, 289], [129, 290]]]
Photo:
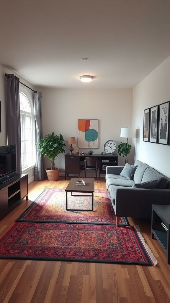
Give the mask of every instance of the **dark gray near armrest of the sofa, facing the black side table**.
[[170, 205], [170, 189], [116, 189], [116, 216], [151, 218], [152, 204]]

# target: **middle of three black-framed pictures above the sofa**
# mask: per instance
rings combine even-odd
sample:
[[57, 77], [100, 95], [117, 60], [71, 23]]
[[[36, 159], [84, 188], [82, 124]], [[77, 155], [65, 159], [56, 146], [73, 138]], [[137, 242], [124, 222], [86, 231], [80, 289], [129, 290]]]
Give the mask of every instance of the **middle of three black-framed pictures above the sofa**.
[[150, 108], [150, 142], [158, 143], [159, 105]]

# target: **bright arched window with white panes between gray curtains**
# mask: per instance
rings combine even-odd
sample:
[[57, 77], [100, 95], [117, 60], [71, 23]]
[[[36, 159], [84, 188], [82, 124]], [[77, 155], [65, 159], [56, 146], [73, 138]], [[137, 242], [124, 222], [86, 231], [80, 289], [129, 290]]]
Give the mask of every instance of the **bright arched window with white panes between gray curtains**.
[[21, 165], [22, 171], [34, 165], [34, 108], [31, 96], [20, 87]]

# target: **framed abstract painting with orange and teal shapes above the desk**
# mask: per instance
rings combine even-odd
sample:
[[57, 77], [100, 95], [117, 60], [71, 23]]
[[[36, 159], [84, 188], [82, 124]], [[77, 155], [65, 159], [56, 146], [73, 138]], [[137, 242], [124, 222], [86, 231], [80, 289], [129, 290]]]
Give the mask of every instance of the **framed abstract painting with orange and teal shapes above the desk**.
[[78, 148], [98, 148], [98, 119], [78, 119], [77, 145]]

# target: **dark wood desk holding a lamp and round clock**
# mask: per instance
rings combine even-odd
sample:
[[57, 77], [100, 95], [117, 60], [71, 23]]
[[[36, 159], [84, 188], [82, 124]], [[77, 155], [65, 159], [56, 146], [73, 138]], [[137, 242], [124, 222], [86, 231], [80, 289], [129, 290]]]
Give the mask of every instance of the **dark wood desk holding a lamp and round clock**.
[[100, 174], [106, 174], [106, 166], [118, 166], [118, 155], [101, 155], [101, 154], [93, 154], [93, 155], [70, 155], [66, 154], [64, 157], [65, 160], [65, 180], [66, 176], [69, 174], [76, 174], [80, 177], [80, 171], [84, 170], [85, 162], [84, 158], [86, 157], [97, 157], [98, 158], [98, 166], [100, 168]]

